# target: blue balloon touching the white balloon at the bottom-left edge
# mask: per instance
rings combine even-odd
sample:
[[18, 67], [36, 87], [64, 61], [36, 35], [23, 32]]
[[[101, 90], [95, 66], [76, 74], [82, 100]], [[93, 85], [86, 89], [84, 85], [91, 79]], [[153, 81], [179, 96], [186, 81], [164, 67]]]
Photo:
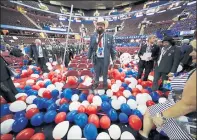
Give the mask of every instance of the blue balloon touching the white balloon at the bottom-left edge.
[[20, 132], [23, 130], [28, 124], [28, 119], [25, 117], [18, 118], [12, 124], [12, 131]]

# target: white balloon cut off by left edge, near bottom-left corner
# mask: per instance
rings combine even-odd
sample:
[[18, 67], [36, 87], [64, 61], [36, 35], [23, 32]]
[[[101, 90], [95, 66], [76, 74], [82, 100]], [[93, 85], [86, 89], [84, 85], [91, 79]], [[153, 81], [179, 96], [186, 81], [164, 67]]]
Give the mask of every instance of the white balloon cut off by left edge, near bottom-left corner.
[[12, 131], [12, 125], [14, 121], [14, 119], [8, 119], [1, 123], [1, 134], [7, 134]]

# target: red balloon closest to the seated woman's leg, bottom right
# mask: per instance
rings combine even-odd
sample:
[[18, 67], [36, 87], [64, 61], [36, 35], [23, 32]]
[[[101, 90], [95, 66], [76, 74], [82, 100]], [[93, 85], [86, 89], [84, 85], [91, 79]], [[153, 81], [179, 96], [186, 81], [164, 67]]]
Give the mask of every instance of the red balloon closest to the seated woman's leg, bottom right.
[[138, 116], [131, 115], [129, 117], [129, 125], [130, 125], [131, 128], [138, 131], [142, 128], [142, 121]]

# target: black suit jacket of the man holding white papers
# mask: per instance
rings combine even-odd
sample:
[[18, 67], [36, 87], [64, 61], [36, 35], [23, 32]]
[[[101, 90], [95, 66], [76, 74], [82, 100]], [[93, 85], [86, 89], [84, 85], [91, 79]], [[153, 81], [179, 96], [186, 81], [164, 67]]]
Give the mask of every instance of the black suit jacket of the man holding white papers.
[[[141, 46], [140, 51], [138, 52], [139, 58], [140, 58], [140, 56], [142, 56], [146, 52], [146, 48], [147, 48], [147, 44]], [[151, 52], [152, 52], [151, 57], [153, 59], [150, 61], [157, 60], [159, 57], [160, 48], [157, 45], [153, 45], [151, 48]], [[140, 58], [140, 61], [144, 61], [144, 60], [141, 60], [141, 58]]]

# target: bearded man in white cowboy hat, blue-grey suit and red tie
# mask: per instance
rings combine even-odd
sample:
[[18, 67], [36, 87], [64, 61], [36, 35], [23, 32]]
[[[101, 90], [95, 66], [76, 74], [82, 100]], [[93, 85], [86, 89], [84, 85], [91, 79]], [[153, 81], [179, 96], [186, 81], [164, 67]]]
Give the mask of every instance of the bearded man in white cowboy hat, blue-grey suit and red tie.
[[88, 59], [93, 59], [94, 69], [96, 73], [93, 88], [97, 88], [99, 77], [103, 75], [103, 88], [107, 89], [107, 74], [110, 64], [110, 56], [112, 61], [115, 60], [116, 51], [114, 47], [113, 36], [106, 34], [105, 29], [108, 22], [103, 18], [98, 18], [95, 23], [96, 33], [91, 36], [88, 52]]

